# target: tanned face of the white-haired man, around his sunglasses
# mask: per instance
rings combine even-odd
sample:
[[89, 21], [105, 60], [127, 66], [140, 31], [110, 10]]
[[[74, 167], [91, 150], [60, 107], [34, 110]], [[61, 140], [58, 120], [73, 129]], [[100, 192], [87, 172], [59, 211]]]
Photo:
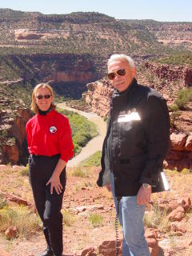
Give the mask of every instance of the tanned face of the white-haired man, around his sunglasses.
[[135, 68], [130, 68], [129, 64], [124, 59], [117, 59], [110, 62], [108, 66], [108, 74], [121, 69], [126, 70], [126, 74], [121, 76], [116, 73], [114, 79], [110, 80], [114, 88], [120, 92], [126, 90], [130, 86], [130, 83], [133, 81], [136, 74]]

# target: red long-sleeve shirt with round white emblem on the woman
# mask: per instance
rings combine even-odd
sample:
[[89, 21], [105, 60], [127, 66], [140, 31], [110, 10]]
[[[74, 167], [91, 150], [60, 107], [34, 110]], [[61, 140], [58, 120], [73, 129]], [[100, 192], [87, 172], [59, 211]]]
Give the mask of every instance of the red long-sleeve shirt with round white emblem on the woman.
[[31, 118], [26, 123], [26, 138], [30, 154], [61, 154], [66, 162], [74, 155], [69, 120], [55, 110]]

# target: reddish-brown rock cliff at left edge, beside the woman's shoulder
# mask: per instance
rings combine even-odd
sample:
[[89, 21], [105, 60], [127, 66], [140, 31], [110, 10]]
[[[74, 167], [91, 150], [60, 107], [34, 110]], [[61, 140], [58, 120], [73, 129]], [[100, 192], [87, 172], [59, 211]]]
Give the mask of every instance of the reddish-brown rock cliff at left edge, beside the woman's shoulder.
[[[9, 87], [4, 88], [9, 91]], [[0, 94], [3, 94], [3, 88], [0, 89]], [[15, 99], [1, 97], [0, 164], [26, 162], [26, 122], [31, 116], [30, 109], [23, 102], [19, 104]]]

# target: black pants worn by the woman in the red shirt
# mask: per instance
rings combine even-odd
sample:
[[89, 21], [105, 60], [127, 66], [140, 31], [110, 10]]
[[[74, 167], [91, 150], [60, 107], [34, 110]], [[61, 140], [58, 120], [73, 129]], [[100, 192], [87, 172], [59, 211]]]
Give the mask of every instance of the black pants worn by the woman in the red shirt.
[[57, 194], [55, 190], [53, 194], [50, 194], [50, 185], [46, 186], [46, 182], [53, 174], [59, 158], [59, 154], [52, 157], [30, 154], [29, 157], [30, 185], [34, 194], [34, 202], [43, 222], [47, 246], [56, 256], [62, 255], [63, 250], [61, 210], [66, 186], [66, 168], [60, 174], [61, 194]]

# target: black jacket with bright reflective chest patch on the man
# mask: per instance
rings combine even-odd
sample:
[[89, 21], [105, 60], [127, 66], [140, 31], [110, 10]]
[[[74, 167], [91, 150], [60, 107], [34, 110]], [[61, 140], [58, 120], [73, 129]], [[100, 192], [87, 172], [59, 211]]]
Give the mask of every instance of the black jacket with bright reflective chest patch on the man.
[[117, 197], [138, 194], [142, 183], [157, 186], [169, 146], [166, 100], [134, 78], [126, 91], [112, 95], [98, 186], [110, 183], [110, 171]]

